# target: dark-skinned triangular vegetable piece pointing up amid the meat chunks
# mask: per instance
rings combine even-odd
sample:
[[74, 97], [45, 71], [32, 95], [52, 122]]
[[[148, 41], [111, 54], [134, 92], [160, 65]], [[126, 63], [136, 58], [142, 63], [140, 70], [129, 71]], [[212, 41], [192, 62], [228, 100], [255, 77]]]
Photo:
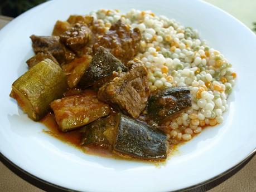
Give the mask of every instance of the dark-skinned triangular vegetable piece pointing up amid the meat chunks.
[[114, 71], [127, 71], [127, 68], [104, 47], [100, 46], [78, 85], [85, 89], [101, 78], [112, 75]]

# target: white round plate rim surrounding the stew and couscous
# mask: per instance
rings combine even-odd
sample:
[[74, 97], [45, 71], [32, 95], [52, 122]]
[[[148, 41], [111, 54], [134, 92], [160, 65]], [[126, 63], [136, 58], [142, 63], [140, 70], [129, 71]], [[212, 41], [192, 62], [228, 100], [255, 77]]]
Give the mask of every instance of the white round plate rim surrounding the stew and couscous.
[[[30, 35], [50, 35], [57, 19], [99, 8], [151, 9], [199, 30], [200, 37], [233, 63], [238, 81], [220, 126], [178, 148], [161, 167], [86, 155], [42, 132], [9, 98], [11, 84], [27, 71]], [[256, 147], [256, 36], [229, 14], [202, 1], [50, 1], [22, 14], [0, 31], [0, 152], [28, 173], [81, 191], [172, 191], [232, 168]]]

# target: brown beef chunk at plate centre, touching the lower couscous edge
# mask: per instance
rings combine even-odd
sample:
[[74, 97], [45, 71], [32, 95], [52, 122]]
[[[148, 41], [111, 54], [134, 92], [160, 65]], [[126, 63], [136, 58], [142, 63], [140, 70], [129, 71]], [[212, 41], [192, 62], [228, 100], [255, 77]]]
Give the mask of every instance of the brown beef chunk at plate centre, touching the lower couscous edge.
[[144, 110], [149, 96], [146, 67], [136, 64], [129, 72], [105, 83], [98, 92], [99, 100], [118, 105], [134, 118]]

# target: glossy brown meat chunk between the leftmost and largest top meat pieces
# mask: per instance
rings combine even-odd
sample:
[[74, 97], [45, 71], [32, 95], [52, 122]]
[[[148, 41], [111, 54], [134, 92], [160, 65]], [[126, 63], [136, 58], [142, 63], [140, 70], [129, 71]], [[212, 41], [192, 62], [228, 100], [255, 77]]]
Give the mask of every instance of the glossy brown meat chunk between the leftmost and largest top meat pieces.
[[61, 42], [72, 50], [80, 50], [91, 39], [91, 31], [85, 24], [76, 23], [74, 27], [62, 33]]

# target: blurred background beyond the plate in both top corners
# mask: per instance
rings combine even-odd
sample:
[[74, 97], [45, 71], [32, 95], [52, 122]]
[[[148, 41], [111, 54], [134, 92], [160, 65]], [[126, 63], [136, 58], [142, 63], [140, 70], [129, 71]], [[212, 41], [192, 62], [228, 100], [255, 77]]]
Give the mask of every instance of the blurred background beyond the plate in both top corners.
[[[37, 4], [47, 0], [1, 0], [0, 15], [17, 17]], [[178, 0], [176, 0], [178, 1]], [[193, 0], [191, 0], [193, 1]], [[256, 0], [205, 0], [224, 9], [256, 32]]]

